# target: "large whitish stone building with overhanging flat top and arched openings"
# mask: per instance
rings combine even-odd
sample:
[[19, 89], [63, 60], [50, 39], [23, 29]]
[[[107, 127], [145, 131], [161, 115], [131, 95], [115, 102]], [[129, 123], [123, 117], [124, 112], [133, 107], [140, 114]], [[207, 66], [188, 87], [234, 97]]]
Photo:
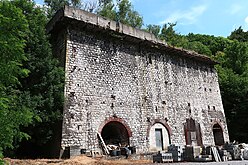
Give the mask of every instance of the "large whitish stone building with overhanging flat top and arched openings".
[[65, 68], [62, 148], [100, 149], [97, 133], [137, 153], [229, 141], [209, 57], [67, 6], [47, 31]]

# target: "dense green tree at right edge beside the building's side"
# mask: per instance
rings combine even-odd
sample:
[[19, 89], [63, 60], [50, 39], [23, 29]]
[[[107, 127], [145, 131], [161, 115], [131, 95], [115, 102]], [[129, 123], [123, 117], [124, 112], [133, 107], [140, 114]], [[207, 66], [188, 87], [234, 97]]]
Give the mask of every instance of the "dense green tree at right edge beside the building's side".
[[248, 43], [232, 41], [215, 59], [223, 105], [231, 140], [247, 142], [248, 131]]

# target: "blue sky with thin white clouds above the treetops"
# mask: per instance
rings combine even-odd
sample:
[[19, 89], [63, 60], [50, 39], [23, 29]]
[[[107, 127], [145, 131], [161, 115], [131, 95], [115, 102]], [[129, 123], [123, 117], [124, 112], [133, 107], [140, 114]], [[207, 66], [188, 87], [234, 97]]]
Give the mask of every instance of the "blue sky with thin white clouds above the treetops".
[[[239, 26], [248, 30], [248, 0], [130, 0], [144, 25], [177, 23], [180, 34], [227, 37]], [[43, 0], [36, 0], [43, 4]]]

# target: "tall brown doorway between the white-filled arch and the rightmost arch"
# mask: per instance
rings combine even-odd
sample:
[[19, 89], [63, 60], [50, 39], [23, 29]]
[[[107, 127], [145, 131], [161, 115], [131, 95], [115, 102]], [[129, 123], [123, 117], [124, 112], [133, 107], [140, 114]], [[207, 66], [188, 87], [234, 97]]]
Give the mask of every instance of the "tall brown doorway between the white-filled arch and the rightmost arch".
[[194, 119], [186, 119], [184, 123], [186, 145], [202, 146], [201, 127]]

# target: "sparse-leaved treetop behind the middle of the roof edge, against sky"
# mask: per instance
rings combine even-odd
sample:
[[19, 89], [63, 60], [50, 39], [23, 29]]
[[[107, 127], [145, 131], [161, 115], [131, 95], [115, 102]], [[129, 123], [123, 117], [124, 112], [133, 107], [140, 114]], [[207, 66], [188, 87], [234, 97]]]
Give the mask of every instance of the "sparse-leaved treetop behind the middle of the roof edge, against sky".
[[99, 4], [97, 14], [103, 17], [135, 28], [141, 28], [143, 25], [143, 18], [133, 9], [129, 0], [117, 0], [117, 4], [112, 0], [100, 0]]

